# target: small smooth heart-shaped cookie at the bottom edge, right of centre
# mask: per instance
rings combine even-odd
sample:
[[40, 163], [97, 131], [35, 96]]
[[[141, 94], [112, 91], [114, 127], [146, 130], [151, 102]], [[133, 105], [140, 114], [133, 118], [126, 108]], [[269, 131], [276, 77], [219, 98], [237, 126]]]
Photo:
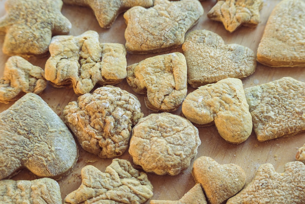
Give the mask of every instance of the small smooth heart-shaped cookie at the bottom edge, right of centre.
[[220, 165], [210, 157], [194, 161], [192, 175], [203, 187], [211, 204], [220, 204], [238, 193], [246, 184], [245, 171], [236, 164]]

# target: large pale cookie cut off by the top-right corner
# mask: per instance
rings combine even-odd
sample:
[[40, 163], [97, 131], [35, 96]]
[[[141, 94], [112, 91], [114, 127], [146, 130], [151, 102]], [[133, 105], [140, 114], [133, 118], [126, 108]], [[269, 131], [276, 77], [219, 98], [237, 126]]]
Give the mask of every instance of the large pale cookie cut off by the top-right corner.
[[305, 2], [283, 0], [271, 12], [257, 61], [271, 67], [305, 67]]

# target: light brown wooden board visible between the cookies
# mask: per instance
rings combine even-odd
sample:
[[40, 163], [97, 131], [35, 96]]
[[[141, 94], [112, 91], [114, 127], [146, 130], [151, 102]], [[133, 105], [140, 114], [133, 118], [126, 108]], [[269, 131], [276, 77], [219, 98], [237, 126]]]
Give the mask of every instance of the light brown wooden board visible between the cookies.
[[[207, 18], [207, 12], [216, 4], [216, 0], [206, 0], [202, 2], [204, 8], [204, 14], [200, 17], [198, 24], [196, 24], [191, 30], [207, 29], [221, 35], [226, 44], [237, 43], [243, 46], [251, 48], [255, 53], [257, 51], [258, 44], [263, 34], [267, 19], [271, 13], [271, 10], [280, 0], [264, 0], [264, 5], [260, 11], [260, 20], [256, 28], [240, 27], [235, 32], [229, 33], [224, 29], [221, 22], [212, 21]], [[6, 12], [4, 9], [4, 0], [0, 0], [0, 17]], [[99, 27], [99, 24], [90, 8], [79, 6], [63, 5], [62, 13], [72, 23], [72, 30], [70, 35], [80, 35], [87, 30], [95, 30], [99, 33], [100, 42], [103, 43], [121, 43], [125, 44], [124, 31], [126, 24], [121, 14], [113, 26], [109, 29], [103, 29]], [[281, 15], [281, 14], [280, 14]], [[0, 35], [0, 47], [2, 48], [4, 41], [4, 35]], [[182, 52], [181, 48], [170, 50], [158, 54], [146, 54], [146, 55], [133, 55], [127, 54], [127, 65], [138, 63], [139, 61], [159, 54]], [[9, 56], [0, 51], [0, 77], [3, 76], [3, 69], [6, 60]], [[29, 61], [41, 68], [44, 68], [45, 58], [30, 58]], [[284, 76], [291, 76], [296, 80], [305, 81], [305, 68], [271, 68], [268, 66], [257, 63], [257, 69], [251, 76], [242, 80], [244, 88], [267, 83], [273, 80], [280, 79]], [[147, 109], [144, 103], [144, 95], [136, 94], [131, 87], [127, 84], [127, 81], [116, 85], [134, 95], [136, 95], [141, 104], [142, 112], [144, 116], [149, 115], [152, 112]], [[193, 91], [194, 88], [188, 86], [188, 93]], [[74, 94], [73, 89], [54, 88], [50, 84], [45, 91], [40, 95], [45, 102], [59, 115], [61, 116], [63, 108], [70, 102], [77, 99], [77, 95]], [[13, 102], [9, 104], [0, 104], [0, 112], [9, 108]], [[177, 115], [181, 115], [181, 108], [175, 112]], [[246, 182], [252, 180], [255, 171], [258, 166], [264, 163], [271, 163], [278, 172], [284, 170], [284, 164], [290, 161], [295, 161], [295, 154], [297, 149], [305, 143], [305, 133], [298, 134], [292, 137], [274, 139], [267, 142], [259, 142], [256, 139], [254, 132], [250, 137], [241, 144], [231, 144], [218, 134], [215, 126], [210, 127], [198, 127], [199, 135], [201, 139], [201, 145], [198, 148], [198, 154], [196, 158], [200, 156], [209, 156], [215, 159], [220, 164], [234, 163], [240, 165], [246, 172]], [[73, 172], [68, 176], [59, 180], [58, 183], [61, 187], [62, 198], [64, 199], [67, 194], [76, 190], [81, 184], [81, 168], [85, 165], [94, 165], [102, 172], [104, 172], [106, 166], [111, 164], [112, 159], [101, 159], [84, 151], [79, 147], [79, 159], [73, 169]], [[127, 159], [132, 162], [131, 156], [126, 151], [119, 158]], [[152, 173], [148, 173], [149, 180], [153, 185], [153, 197], [157, 200], [178, 200], [189, 189], [191, 189], [195, 181], [192, 177], [192, 163], [191, 165], [181, 172], [177, 176], [159, 176]], [[31, 172], [27, 170], [20, 171], [16, 176], [12, 177], [14, 180], [27, 179], [32, 180], [37, 178]], [[146, 202], [146, 203], [149, 203]]]

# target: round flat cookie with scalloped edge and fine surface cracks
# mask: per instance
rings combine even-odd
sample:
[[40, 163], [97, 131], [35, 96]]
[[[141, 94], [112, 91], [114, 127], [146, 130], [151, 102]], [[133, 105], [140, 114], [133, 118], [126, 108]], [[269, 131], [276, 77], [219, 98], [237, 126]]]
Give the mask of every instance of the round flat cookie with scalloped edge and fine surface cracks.
[[197, 155], [198, 129], [171, 113], [152, 113], [132, 129], [129, 154], [135, 165], [158, 175], [177, 175]]

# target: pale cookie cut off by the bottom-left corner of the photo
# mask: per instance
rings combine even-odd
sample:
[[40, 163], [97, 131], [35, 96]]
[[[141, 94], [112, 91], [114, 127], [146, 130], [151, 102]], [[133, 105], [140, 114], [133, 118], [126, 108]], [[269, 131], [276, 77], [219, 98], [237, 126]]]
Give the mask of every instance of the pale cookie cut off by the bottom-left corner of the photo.
[[58, 183], [50, 178], [36, 180], [1, 180], [1, 203], [62, 204]]

